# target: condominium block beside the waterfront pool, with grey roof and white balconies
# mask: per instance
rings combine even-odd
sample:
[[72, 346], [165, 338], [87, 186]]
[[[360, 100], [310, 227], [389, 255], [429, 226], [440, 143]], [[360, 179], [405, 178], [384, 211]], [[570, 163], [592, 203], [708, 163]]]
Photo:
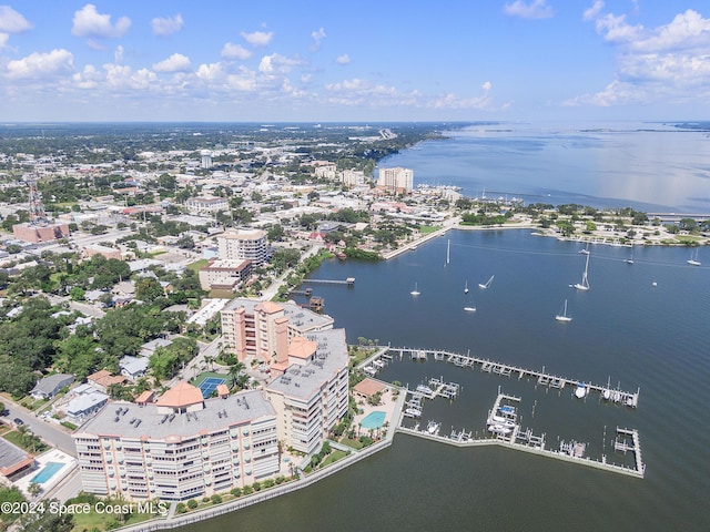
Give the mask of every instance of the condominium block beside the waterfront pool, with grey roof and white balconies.
[[345, 329], [295, 337], [272, 364], [274, 379], [265, 390], [284, 444], [315, 452], [347, 413], [347, 365]]

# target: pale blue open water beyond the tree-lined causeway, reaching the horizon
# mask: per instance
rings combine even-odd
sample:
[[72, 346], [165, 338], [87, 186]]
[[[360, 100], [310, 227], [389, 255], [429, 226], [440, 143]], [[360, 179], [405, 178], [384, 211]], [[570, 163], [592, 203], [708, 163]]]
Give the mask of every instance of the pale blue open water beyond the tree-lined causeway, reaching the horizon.
[[467, 196], [641, 211], [710, 211], [710, 139], [651, 123], [476, 125], [382, 162]]

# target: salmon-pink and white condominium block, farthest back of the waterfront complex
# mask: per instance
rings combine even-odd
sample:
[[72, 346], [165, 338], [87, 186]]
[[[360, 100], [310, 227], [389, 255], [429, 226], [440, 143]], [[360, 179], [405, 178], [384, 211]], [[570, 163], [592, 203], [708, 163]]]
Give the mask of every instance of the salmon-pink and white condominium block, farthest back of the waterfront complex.
[[221, 310], [222, 344], [240, 360], [283, 358], [292, 338], [333, 328], [333, 318], [293, 303], [232, 299]]

